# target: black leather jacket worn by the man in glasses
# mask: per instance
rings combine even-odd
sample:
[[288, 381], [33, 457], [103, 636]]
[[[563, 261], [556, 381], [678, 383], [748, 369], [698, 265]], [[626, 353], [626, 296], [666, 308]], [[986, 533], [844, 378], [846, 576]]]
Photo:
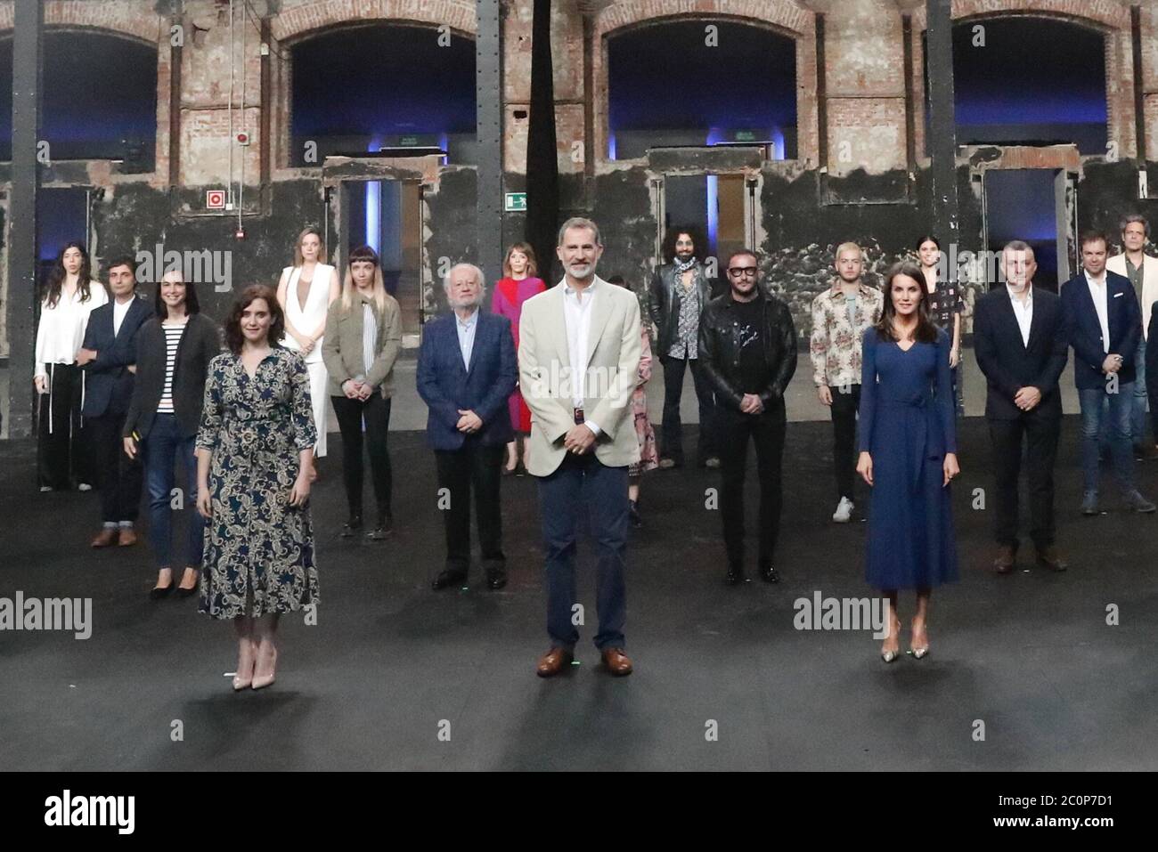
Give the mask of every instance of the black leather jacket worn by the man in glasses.
[[[760, 399], [765, 411], [784, 418], [784, 391], [796, 373], [796, 325], [789, 306], [779, 299], [763, 291], [757, 299], [764, 303], [760, 339], [764, 346], [764, 361], [772, 374], [771, 382], [760, 391]], [[717, 404], [739, 411], [743, 391], [736, 382], [740, 351], [736, 323], [732, 317], [733, 304], [732, 294], [725, 293], [713, 299], [699, 317], [699, 362], [716, 390]]]

